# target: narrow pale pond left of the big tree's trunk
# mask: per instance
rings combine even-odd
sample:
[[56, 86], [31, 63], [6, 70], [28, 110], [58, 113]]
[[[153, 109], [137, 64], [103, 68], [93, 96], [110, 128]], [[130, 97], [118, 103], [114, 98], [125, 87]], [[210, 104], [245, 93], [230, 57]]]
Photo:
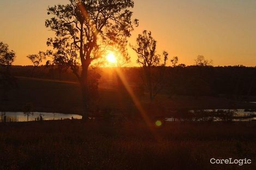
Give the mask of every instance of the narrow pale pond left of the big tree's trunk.
[[[50, 120], [60, 120], [60, 119], [82, 119], [80, 115], [70, 115], [70, 114], [58, 114], [58, 113], [47, 113], [47, 112], [33, 112], [33, 115], [29, 115], [28, 121], [39, 120], [40, 116], [46, 121]], [[7, 122], [27, 122], [27, 116], [23, 112], [0, 112], [0, 119], [3, 120], [3, 116], [7, 117]]]

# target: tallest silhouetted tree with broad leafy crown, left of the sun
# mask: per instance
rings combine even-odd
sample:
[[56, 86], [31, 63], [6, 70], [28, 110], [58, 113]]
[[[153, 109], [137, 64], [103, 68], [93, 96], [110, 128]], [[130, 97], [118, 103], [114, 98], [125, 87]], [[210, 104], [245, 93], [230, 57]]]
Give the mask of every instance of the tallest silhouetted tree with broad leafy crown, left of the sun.
[[[132, 0], [70, 0], [67, 5], [48, 8], [46, 27], [55, 32], [55, 38], [47, 45], [54, 53], [63, 56], [81, 85], [84, 114], [87, 117], [90, 96], [88, 94], [88, 68], [93, 61], [102, 58], [108, 46], [118, 44], [126, 48], [134, 24], [131, 17]], [[121, 50], [119, 50], [121, 51]], [[79, 65], [82, 71], [78, 72]]]

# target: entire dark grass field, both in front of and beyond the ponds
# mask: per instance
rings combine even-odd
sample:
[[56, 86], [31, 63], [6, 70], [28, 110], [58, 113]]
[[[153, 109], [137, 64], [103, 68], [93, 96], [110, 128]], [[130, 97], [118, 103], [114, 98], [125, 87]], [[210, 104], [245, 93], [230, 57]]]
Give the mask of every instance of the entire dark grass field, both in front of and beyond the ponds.
[[[19, 89], [1, 111], [80, 114], [80, 87], [74, 82], [18, 78]], [[138, 97], [147, 108], [147, 96]], [[101, 108], [137, 110], [127, 93], [100, 85]], [[159, 96], [151, 111], [179, 108], [255, 108], [214, 97]], [[160, 109], [161, 108], [161, 109]], [[159, 111], [159, 112], [157, 112]], [[255, 122], [169, 122], [162, 128], [143, 121], [45, 121], [0, 123], [0, 169], [256, 169]], [[153, 131], [151, 130], [153, 129]], [[252, 159], [251, 165], [211, 165], [210, 159]]]

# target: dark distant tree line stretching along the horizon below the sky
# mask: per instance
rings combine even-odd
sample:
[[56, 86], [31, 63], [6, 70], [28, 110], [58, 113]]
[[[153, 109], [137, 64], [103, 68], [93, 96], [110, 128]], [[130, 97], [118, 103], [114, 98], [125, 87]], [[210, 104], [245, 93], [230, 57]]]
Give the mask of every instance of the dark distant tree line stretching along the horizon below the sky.
[[[13, 66], [11, 73], [16, 76], [30, 77], [33, 66]], [[158, 72], [154, 67], [153, 71]], [[256, 67], [244, 66], [176, 66], [166, 67], [164, 75], [164, 87], [160, 93], [188, 96], [220, 96], [236, 98], [239, 96], [256, 95]], [[89, 70], [89, 77], [97, 77], [100, 83], [108, 83], [112, 80], [109, 74], [112, 68], [97, 68]], [[141, 86], [143, 80], [141, 73], [143, 68], [127, 67], [123, 69], [124, 75], [130, 85]], [[157, 74], [162, 76], [161, 74]], [[40, 66], [34, 72], [35, 78], [46, 78], [59, 80], [58, 67], [49, 68]], [[62, 80], [77, 81], [71, 70], [63, 72]], [[114, 79], [115, 80], [115, 79]], [[115, 82], [112, 82], [115, 84]], [[147, 92], [147, 90], [145, 90]], [[237, 98], [238, 99], [238, 98]]]

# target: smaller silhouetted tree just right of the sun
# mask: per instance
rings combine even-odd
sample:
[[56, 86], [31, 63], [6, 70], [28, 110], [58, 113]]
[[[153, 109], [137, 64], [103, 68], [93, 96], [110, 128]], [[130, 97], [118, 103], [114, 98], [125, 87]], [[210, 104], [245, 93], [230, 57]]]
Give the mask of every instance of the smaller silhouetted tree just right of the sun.
[[[163, 71], [168, 60], [168, 53], [163, 52], [162, 57], [156, 53], [156, 40], [152, 37], [151, 32], [147, 30], [138, 35], [137, 46], [132, 47], [132, 49], [138, 55], [138, 64], [143, 67], [144, 84], [152, 101], [163, 88], [165, 75]], [[161, 58], [163, 58], [163, 64], [160, 64]]]

